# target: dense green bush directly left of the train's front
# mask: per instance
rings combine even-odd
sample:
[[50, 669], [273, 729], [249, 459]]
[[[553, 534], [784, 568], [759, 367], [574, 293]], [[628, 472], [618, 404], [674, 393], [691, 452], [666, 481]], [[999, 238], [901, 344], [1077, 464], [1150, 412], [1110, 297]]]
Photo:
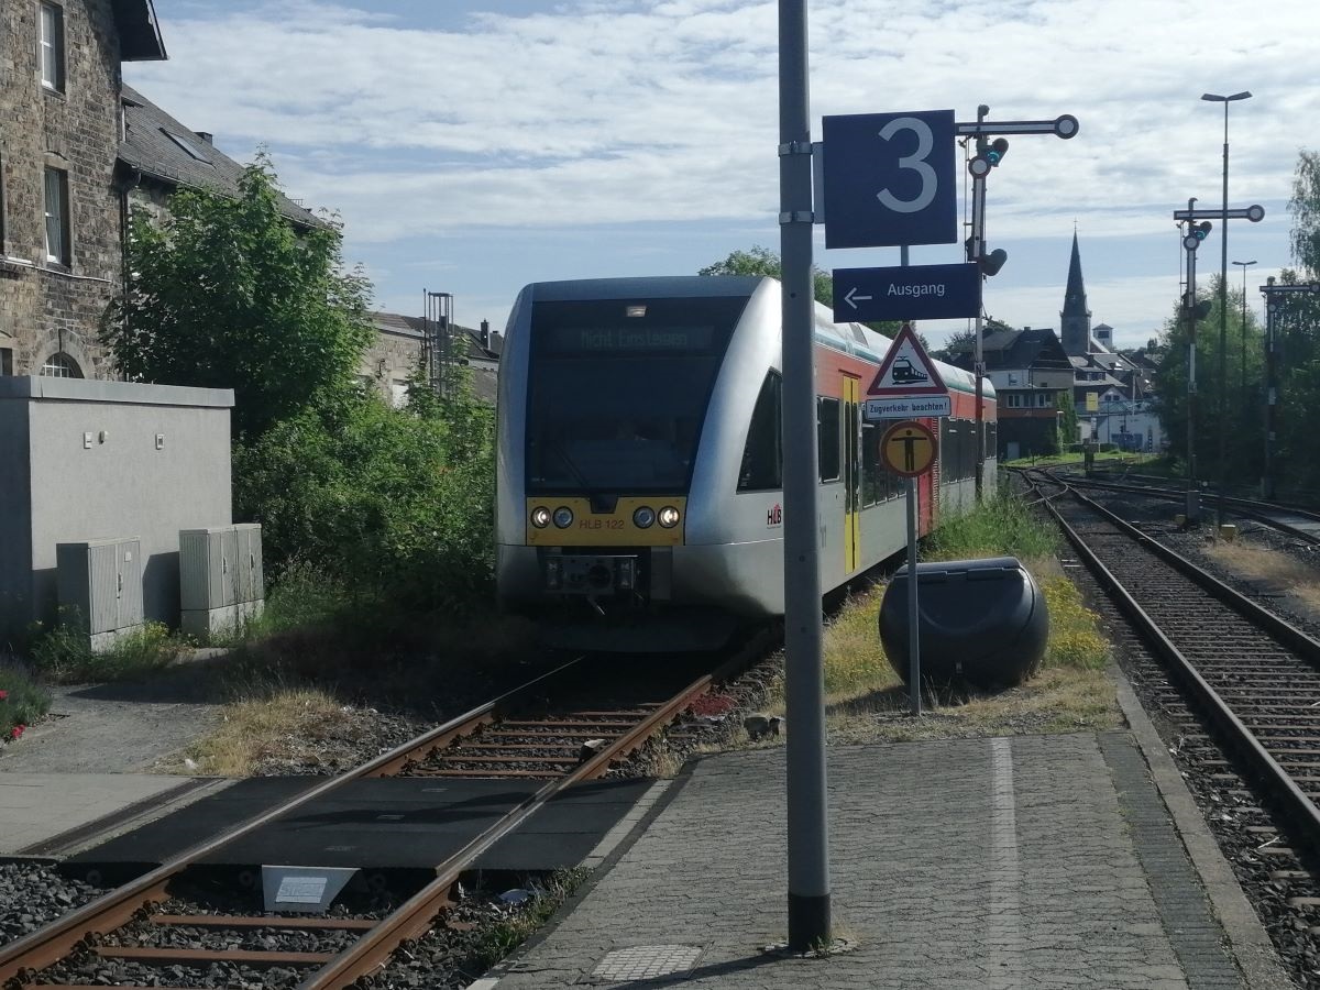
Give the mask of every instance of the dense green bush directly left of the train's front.
[[343, 389], [235, 446], [236, 511], [275, 568], [462, 614], [494, 589], [494, 411], [462, 393], [393, 409]]

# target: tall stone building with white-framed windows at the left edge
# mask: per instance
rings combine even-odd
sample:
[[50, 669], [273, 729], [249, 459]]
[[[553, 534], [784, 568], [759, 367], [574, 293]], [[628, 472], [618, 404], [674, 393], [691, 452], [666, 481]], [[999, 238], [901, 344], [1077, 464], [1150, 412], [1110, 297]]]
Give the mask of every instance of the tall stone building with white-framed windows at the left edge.
[[0, 4], [0, 374], [110, 374], [120, 66], [161, 58], [150, 0]]

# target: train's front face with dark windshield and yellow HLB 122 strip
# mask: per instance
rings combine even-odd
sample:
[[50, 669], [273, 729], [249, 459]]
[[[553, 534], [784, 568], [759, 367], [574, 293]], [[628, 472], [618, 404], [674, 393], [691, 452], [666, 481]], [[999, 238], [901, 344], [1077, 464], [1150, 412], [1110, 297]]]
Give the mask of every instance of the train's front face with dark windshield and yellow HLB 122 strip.
[[[717, 281], [741, 294], [711, 296]], [[626, 279], [519, 296], [500, 359], [499, 597], [552, 644], [704, 648], [731, 631], [700, 610], [675, 622], [675, 553], [711, 392], [754, 286]]]

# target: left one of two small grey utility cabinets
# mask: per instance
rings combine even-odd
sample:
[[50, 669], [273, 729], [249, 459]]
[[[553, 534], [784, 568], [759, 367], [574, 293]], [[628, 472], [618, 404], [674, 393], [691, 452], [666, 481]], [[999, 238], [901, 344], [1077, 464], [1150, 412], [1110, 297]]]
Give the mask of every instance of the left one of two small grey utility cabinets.
[[55, 544], [59, 622], [94, 651], [143, 626], [143, 552], [137, 537]]

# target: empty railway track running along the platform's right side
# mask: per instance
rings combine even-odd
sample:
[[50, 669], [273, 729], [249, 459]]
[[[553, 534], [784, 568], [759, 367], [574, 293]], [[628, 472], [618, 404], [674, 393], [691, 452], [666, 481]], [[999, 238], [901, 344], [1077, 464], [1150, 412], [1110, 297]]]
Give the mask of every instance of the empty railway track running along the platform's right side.
[[1220, 739], [1320, 850], [1320, 643], [1060, 479], [1028, 480]]

